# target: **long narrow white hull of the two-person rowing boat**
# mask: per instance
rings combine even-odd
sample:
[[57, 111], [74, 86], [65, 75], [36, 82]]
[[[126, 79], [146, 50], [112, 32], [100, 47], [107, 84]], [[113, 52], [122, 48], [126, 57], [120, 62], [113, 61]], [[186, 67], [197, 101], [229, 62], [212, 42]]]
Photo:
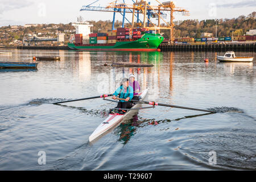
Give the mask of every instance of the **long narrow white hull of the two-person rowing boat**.
[[[141, 100], [143, 100], [147, 94], [147, 90], [143, 90], [141, 93], [139, 93], [139, 96], [141, 96]], [[135, 109], [138, 107], [138, 104], [135, 104], [131, 109]], [[110, 129], [112, 129], [114, 126], [117, 126], [123, 118], [127, 117], [131, 113], [131, 110], [128, 110], [126, 114], [109, 114], [109, 117], [106, 118], [98, 127], [96, 130], [93, 131], [92, 135], [89, 137], [89, 142], [92, 142], [92, 140], [100, 137], [102, 134], [106, 133]]]

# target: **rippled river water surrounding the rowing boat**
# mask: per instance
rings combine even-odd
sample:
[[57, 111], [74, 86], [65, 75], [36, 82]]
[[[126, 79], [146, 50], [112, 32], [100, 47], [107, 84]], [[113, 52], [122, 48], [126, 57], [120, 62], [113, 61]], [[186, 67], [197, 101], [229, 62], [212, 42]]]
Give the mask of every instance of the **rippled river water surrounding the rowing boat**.
[[[32, 71], [0, 71], [0, 170], [256, 169], [253, 52], [236, 53], [254, 56], [253, 63], [219, 63], [216, 55], [224, 52], [3, 51], [13, 52], [0, 55], [4, 61], [61, 60], [36, 61]], [[111, 67], [118, 61], [154, 67]], [[98, 98], [51, 104], [113, 93], [129, 73], [149, 89], [147, 101], [217, 113], [156, 106], [90, 143], [115, 103]]]

